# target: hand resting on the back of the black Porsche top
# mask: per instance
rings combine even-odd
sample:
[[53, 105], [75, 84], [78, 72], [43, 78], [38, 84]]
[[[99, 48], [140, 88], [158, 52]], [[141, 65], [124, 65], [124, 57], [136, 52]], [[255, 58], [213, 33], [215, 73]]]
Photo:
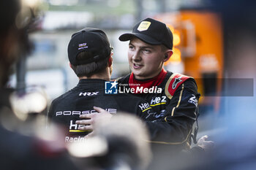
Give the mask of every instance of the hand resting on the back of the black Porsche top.
[[109, 112], [107, 112], [105, 109], [102, 109], [100, 107], [94, 107], [94, 110], [96, 110], [98, 113], [80, 115], [80, 118], [84, 120], [77, 120], [75, 122], [78, 125], [83, 125], [78, 127], [79, 130], [94, 131], [95, 123], [100, 123], [100, 121], [109, 121], [110, 118], [112, 117], [112, 115]]

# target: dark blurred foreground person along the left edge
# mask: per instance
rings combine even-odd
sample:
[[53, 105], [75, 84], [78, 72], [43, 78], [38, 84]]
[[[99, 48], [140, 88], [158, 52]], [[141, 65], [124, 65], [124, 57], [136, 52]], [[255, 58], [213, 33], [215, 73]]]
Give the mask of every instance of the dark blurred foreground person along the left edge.
[[[30, 50], [29, 26], [18, 28], [15, 24], [20, 4], [18, 0], [0, 2], [0, 169], [76, 169], [63, 147], [56, 147], [56, 144], [36, 136], [23, 136], [11, 131], [17, 124], [19, 127], [25, 125], [12, 112], [10, 93], [13, 90], [5, 88], [12, 65], [20, 55], [26, 55]], [[23, 23], [24, 20], [19, 18], [18, 21]]]

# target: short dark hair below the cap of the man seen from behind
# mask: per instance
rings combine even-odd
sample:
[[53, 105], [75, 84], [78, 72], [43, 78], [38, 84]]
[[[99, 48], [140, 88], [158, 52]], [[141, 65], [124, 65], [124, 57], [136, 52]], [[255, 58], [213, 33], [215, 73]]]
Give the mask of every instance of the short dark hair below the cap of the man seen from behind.
[[[93, 53], [83, 51], [78, 54], [77, 60], [84, 60], [85, 58], [91, 58], [92, 56], [94, 56]], [[102, 72], [108, 66], [109, 58], [110, 54], [108, 54], [108, 57], [97, 62], [86, 63], [78, 66], [73, 66], [71, 64], [71, 68], [74, 70], [78, 77], [91, 77], [94, 74]]]

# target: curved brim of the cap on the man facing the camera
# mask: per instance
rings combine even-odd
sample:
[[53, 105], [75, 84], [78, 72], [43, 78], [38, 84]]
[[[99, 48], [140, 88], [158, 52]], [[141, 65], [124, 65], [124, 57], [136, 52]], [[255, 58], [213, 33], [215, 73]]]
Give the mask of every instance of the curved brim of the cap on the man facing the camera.
[[126, 42], [132, 39], [132, 37], [137, 37], [138, 39], [142, 40], [143, 42], [148, 43], [149, 45], [161, 45], [162, 42], [158, 42], [156, 39], [151, 38], [150, 36], [147, 36], [145, 34], [140, 34], [140, 33], [127, 33], [127, 34], [122, 34], [119, 36], [119, 40], [121, 42]]

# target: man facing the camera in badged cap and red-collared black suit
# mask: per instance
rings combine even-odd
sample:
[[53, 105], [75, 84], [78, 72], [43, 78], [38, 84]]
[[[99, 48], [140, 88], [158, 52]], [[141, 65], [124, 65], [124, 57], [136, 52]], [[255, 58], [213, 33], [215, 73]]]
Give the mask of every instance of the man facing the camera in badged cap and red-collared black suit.
[[[165, 23], [146, 18], [135, 25], [132, 33], [122, 34], [121, 41], [129, 41], [128, 60], [132, 73], [118, 80], [128, 88], [160, 88], [161, 92], [135, 94], [144, 98], [154, 112], [144, 112], [154, 144], [168, 144], [187, 148], [192, 125], [197, 119], [197, 85], [192, 77], [173, 74], [163, 64], [173, 55], [173, 34]], [[83, 115], [83, 118], [92, 118]], [[80, 123], [83, 124], [83, 123]], [[87, 127], [84, 126], [83, 129]]]

